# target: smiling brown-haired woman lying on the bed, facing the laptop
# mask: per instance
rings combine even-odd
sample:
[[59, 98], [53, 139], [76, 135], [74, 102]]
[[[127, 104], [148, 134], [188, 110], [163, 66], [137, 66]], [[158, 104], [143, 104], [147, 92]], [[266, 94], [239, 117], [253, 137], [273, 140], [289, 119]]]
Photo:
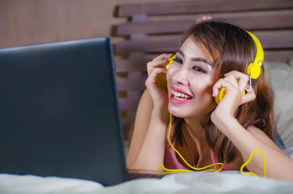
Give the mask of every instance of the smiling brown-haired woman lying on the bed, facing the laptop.
[[[243, 29], [206, 20], [183, 34], [168, 70], [161, 66], [170, 54], [149, 62], [127, 168], [156, 170], [163, 163], [168, 169], [193, 169], [169, 145], [172, 114], [171, 143], [191, 166], [223, 162], [223, 170], [239, 170], [260, 149], [266, 157], [267, 177], [293, 181], [292, 159], [272, 141], [274, 97], [263, 66], [251, 87], [247, 85], [245, 72], [255, 49]], [[226, 95], [217, 105], [214, 97], [221, 88], [226, 88]], [[262, 155], [255, 153], [246, 168], [263, 176]]]

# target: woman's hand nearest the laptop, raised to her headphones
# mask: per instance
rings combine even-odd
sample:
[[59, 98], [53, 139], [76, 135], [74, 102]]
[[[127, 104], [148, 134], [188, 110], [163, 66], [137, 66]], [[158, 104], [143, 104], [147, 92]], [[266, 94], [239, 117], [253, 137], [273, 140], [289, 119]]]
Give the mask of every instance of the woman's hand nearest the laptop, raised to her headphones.
[[161, 54], [147, 63], [146, 88], [148, 89], [154, 103], [154, 108], [167, 108], [167, 70], [161, 66], [166, 66], [167, 60], [172, 54]]

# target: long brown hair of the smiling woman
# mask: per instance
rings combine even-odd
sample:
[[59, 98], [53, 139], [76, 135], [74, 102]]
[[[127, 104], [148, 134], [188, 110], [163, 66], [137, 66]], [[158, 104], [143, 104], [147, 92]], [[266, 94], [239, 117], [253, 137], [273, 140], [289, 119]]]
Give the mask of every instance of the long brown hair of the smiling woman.
[[[255, 44], [251, 36], [240, 27], [218, 20], [206, 20], [190, 26], [182, 35], [181, 45], [191, 37], [194, 43], [203, 48], [213, 65], [213, 83], [229, 71], [246, 73], [255, 57]], [[251, 81], [256, 99], [239, 106], [235, 118], [244, 127], [255, 126], [272, 139], [273, 101], [272, 88], [266, 83], [264, 65], [261, 74]], [[233, 162], [238, 154], [236, 146], [210, 120], [202, 121], [206, 140], [220, 162]], [[173, 140], [183, 146], [182, 125], [184, 119], [173, 116], [175, 124]], [[250, 143], [250, 142], [248, 142]]]

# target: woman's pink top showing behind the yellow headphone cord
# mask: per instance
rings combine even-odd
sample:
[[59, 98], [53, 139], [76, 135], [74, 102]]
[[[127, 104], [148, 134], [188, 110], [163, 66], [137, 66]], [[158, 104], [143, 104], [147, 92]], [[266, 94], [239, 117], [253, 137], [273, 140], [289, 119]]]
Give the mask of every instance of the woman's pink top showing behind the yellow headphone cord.
[[[171, 136], [172, 136], [172, 132], [173, 132], [173, 126], [171, 128]], [[212, 150], [210, 150], [210, 154], [211, 154], [211, 159], [213, 163], [217, 163], [217, 159], [214, 155], [214, 152]], [[167, 169], [187, 169], [185, 168], [176, 158], [176, 153], [173, 150], [173, 148], [171, 148], [171, 146], [169, 145], [169, 141], [168, 141], [168, 131], [166, 133], [166, 146], [165, 146], [165, 156], [164, 156], [164, 166]], [[220, 169], [221, 165], [215, 165], [215, 169], [218, 170]], [[221, 171], [231, 171], [234, 170], [232, 168], [230, 168], [230, 166], [228, 166], [225, 162], [224, 162], [224, 167]]]

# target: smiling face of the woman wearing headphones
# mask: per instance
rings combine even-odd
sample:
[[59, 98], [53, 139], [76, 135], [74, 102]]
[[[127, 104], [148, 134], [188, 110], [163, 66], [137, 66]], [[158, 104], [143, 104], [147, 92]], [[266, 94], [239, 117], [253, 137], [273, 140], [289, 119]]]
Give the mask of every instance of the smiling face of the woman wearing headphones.
[[215, 108], [213, 68], [191, 38], [176, 53], [167, 71], [169, 112], [180, 118], [206, 115]]

